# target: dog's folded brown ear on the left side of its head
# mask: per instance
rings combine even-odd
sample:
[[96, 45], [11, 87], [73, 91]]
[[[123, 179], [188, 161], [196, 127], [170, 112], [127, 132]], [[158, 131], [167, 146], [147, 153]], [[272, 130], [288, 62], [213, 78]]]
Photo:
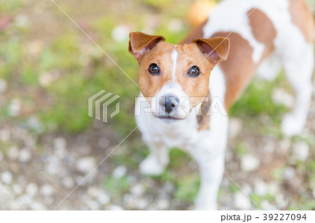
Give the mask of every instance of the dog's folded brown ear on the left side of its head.
[[129, 52], [137, 59], [138, 63], [146, 52], [152, 50], [155, 45], [165, 41], [163, 36], [151, 36], [139, 31], [130, 33]]

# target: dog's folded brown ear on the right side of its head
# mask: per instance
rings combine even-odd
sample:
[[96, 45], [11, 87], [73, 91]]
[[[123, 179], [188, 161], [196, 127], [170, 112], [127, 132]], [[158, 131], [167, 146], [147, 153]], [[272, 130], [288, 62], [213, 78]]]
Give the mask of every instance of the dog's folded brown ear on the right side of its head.
[[200, 51], [207, 59], [211, 59], [214, 64], [218, 64], [221, 60], [228, 59], [230, 51], [229, 38], [196, 38], [193, 43], [196, 43]]

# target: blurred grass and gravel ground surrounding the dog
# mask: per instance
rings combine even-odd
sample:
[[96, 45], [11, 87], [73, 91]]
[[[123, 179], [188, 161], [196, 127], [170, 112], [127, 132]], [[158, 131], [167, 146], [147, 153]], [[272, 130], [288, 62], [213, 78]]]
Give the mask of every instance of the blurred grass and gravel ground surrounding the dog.
[[[179, 43], [191, 17], [218, 1], [56, 2], [138, 82], [130, 31]], [[315, 1], [308, 2], [314, 11]], [[121, 96], [109, 123], [87, 115], [87, 99], [102, 89]], [[0, 209], [54, 209], [134, 129], [138, 94], [52, 1], [1, 0]], [[303, 134], [286, 138], [279, 124], [293, 103], [280, 73], [273, 82], [255, 79], [230, 112], [226, 172], [266, 210], [315, 209], [315, 101]], [[147, 154], [135, 131], [57, 209], [193, 209], [197, 164], [174, 148], [165, 173], [146, 177], [138, 164]], [[223, 210], [257, 209], [226, 177], [218, 202]]]

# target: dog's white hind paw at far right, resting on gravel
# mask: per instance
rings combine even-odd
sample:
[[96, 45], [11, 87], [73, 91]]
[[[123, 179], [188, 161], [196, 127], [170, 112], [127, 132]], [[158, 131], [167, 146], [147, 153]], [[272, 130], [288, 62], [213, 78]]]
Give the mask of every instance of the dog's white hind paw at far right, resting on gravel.
[[301, 134], [304, 128], [304, 122], [300, 117], [294, 115], [292, 113], [284, 116], [283, 121], [281, 123], [281, 131], [286, 136], [297, 136]]

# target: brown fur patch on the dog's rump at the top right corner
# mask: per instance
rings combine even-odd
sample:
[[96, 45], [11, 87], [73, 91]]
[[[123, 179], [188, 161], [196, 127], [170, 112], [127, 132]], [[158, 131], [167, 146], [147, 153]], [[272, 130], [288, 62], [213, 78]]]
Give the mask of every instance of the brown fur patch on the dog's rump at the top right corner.
[[290, 14], [292, 16], [292, 22], [295, 24], [305, 38], [307, 43], [314, 42], [314, 17], [311, 14], [307, 6], [307, 2], [304, 0], [289, 0], [290, 2]]

